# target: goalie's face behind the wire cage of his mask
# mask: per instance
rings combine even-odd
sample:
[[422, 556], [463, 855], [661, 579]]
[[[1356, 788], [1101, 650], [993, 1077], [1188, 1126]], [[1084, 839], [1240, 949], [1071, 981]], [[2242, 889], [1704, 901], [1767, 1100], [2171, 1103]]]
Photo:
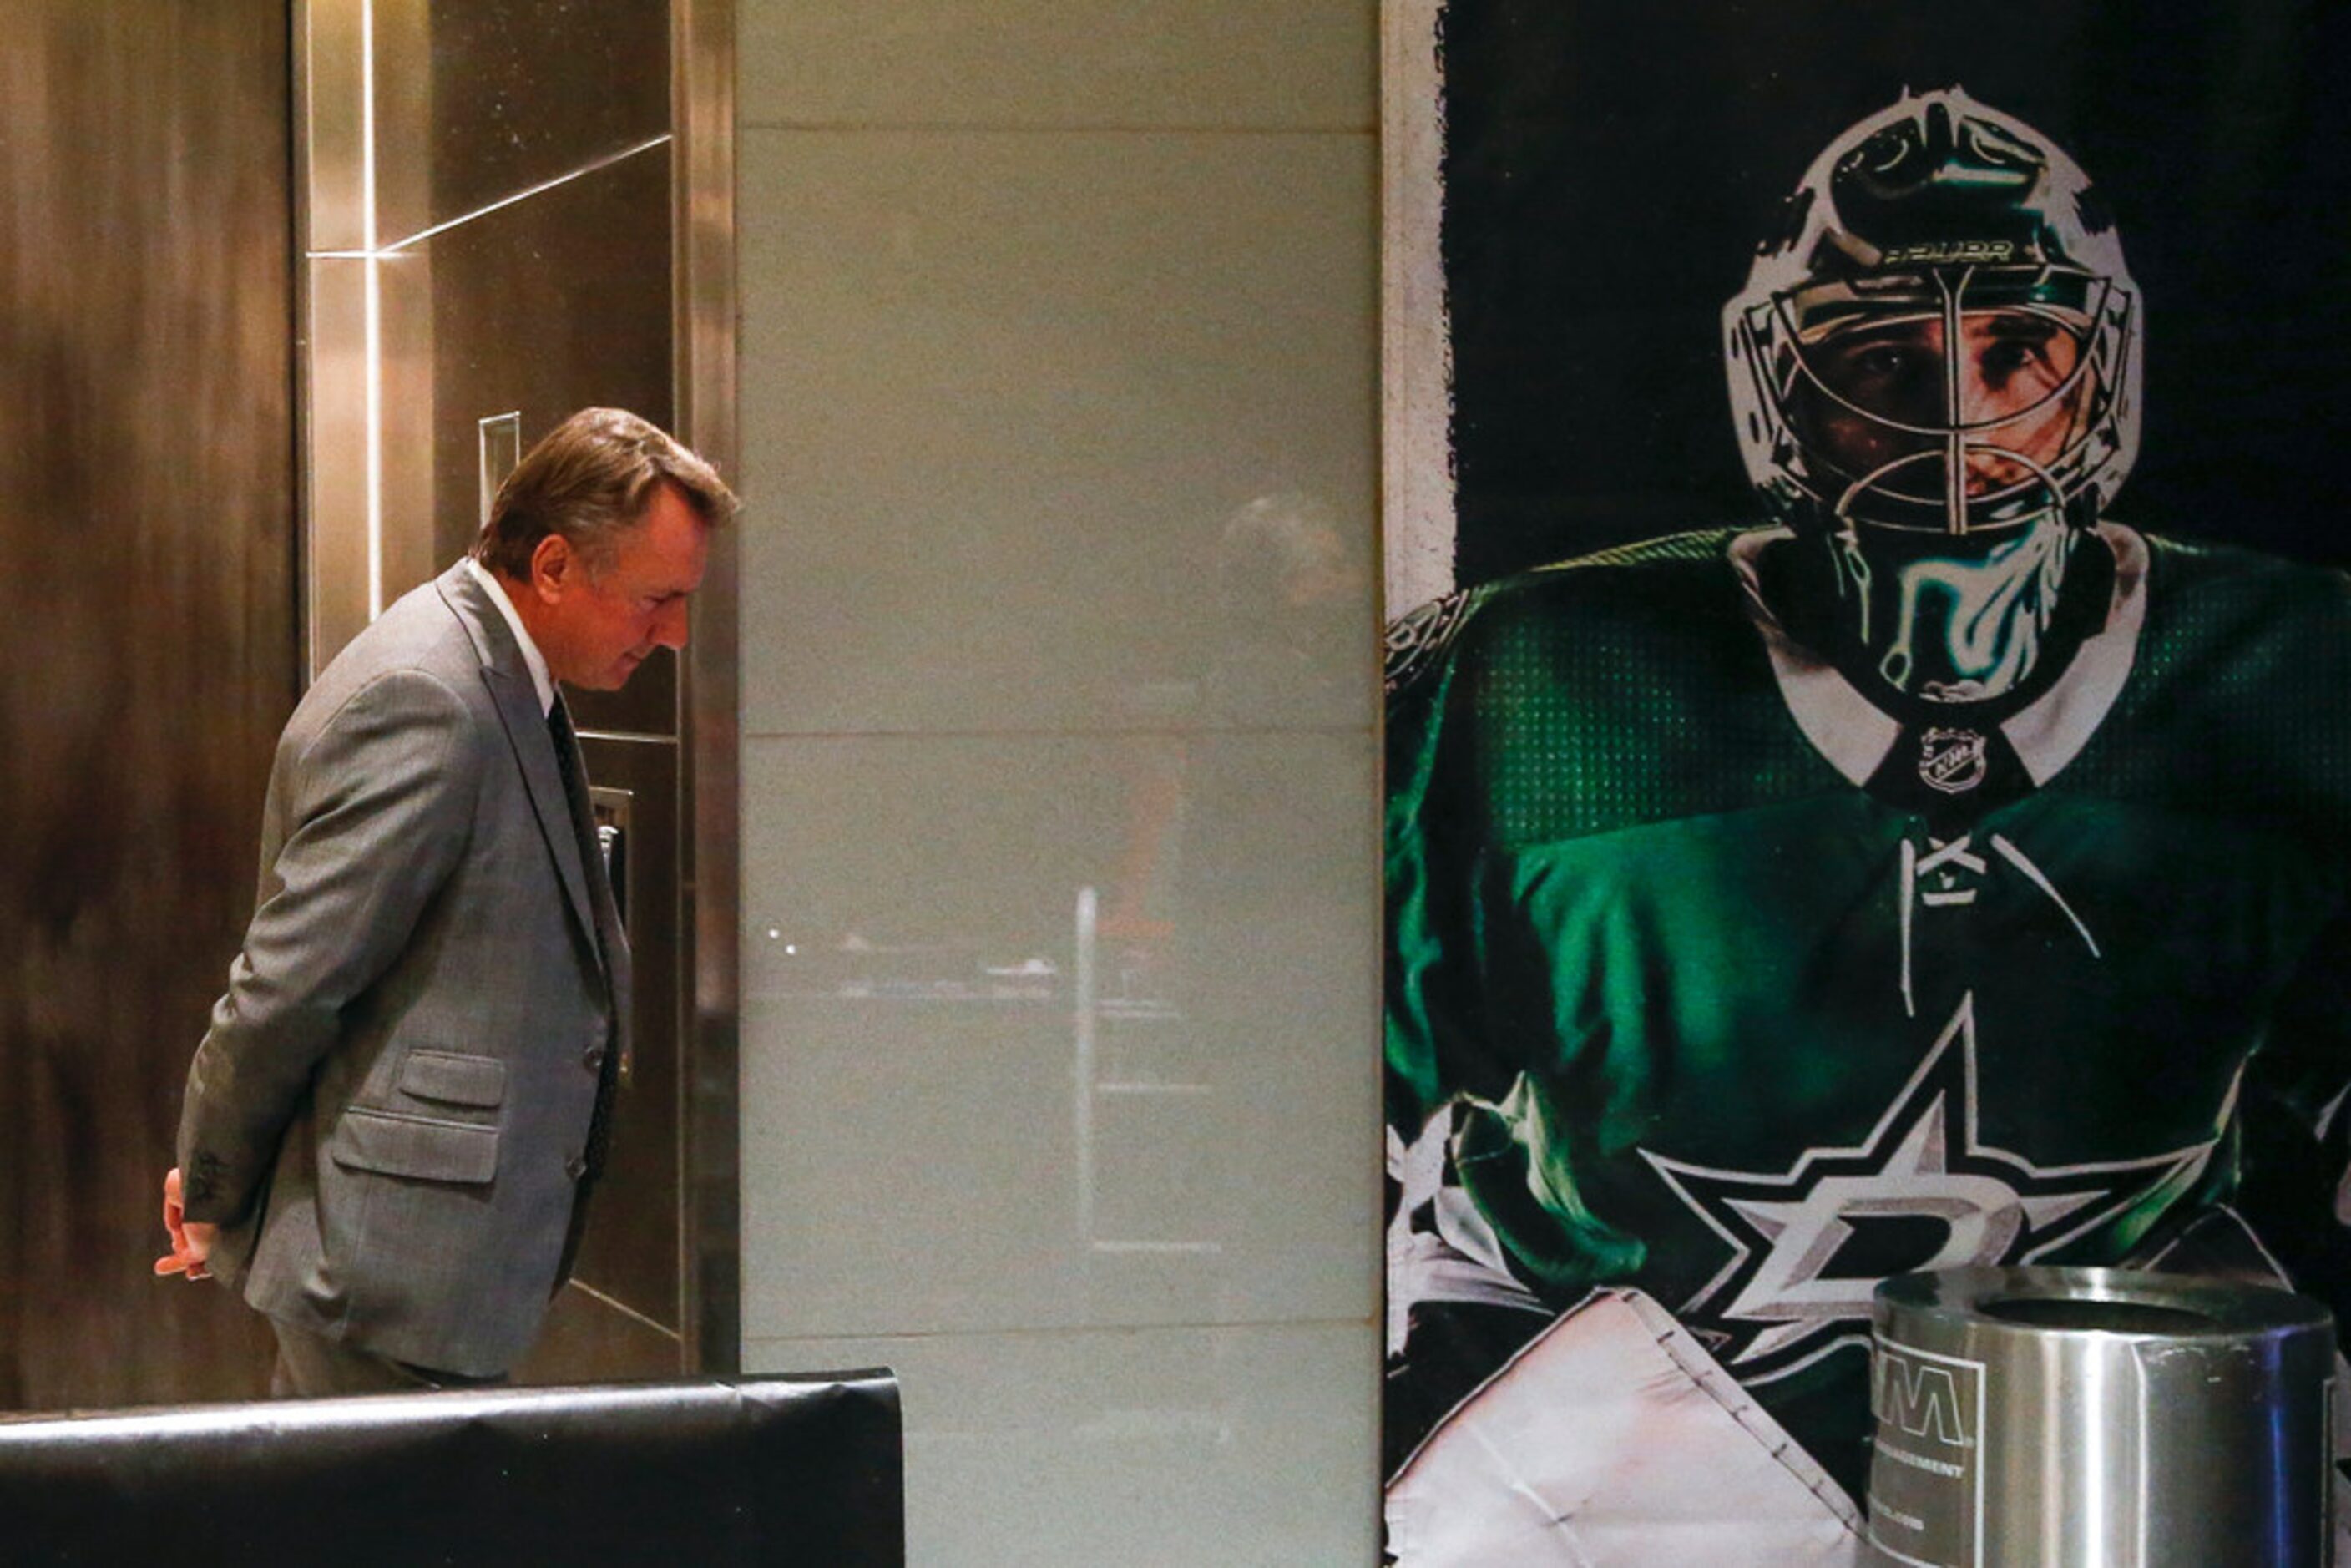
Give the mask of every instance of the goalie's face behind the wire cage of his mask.
[[2036, 310], [1965, 310], [1958, 322], [1956, 355], [1940, 313], [1864, 322], [1808, 350], [1817, 386], [1806, 386], [1803, 421], [1848, 480], [1909, 456], [1881, 484], [1933, 498], [1947, 444], [1935, 433], [1954, 425], [1965, 430], [1968, 496], [2027, 484], [2064, 451], [2088, 388], [2074, 376], [2081, 339]]

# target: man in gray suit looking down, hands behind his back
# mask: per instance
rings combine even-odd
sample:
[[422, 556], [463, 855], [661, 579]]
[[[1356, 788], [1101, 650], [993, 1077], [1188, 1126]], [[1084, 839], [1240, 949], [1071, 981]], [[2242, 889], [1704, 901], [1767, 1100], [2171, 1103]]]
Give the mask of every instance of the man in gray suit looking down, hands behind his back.
[[583, 409], [287, 722], [155, 1265], [242, 1288], [277, 1333], [273, 1392], [498, 1380], [536, 1338], [628, 1023], [555, 682], [616, 689], [684, 646], [731, 510], [675, 440]]

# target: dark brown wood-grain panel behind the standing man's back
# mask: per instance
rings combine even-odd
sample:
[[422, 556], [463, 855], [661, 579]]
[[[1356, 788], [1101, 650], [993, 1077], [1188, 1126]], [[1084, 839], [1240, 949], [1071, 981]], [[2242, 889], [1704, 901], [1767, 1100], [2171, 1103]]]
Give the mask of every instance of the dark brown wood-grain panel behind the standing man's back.
[[296, 693], [287, 7], [0, 28], [0, 1406], [249, 1394], [148, 1262]]

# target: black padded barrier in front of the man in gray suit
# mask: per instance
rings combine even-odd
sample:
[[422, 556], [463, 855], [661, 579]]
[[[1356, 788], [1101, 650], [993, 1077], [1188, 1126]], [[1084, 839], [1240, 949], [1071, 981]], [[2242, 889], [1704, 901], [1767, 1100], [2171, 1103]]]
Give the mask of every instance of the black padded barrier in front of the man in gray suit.
[[0, 1561], [905, 1563], [886, 1371], [0, 1420]]

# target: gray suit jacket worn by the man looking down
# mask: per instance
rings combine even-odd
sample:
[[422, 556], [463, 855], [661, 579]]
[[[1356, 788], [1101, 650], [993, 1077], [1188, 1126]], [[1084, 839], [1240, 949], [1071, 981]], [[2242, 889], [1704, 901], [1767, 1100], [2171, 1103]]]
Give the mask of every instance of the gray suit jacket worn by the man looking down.
[[513, 1368], [569, 1267], [625, 1020], [628, 945], [522, 649], [451, 567], [277, 741], [254, 924], [179, 1128], [188, 1218], [228, 1227], [214, 1272], [400, 1361]]

